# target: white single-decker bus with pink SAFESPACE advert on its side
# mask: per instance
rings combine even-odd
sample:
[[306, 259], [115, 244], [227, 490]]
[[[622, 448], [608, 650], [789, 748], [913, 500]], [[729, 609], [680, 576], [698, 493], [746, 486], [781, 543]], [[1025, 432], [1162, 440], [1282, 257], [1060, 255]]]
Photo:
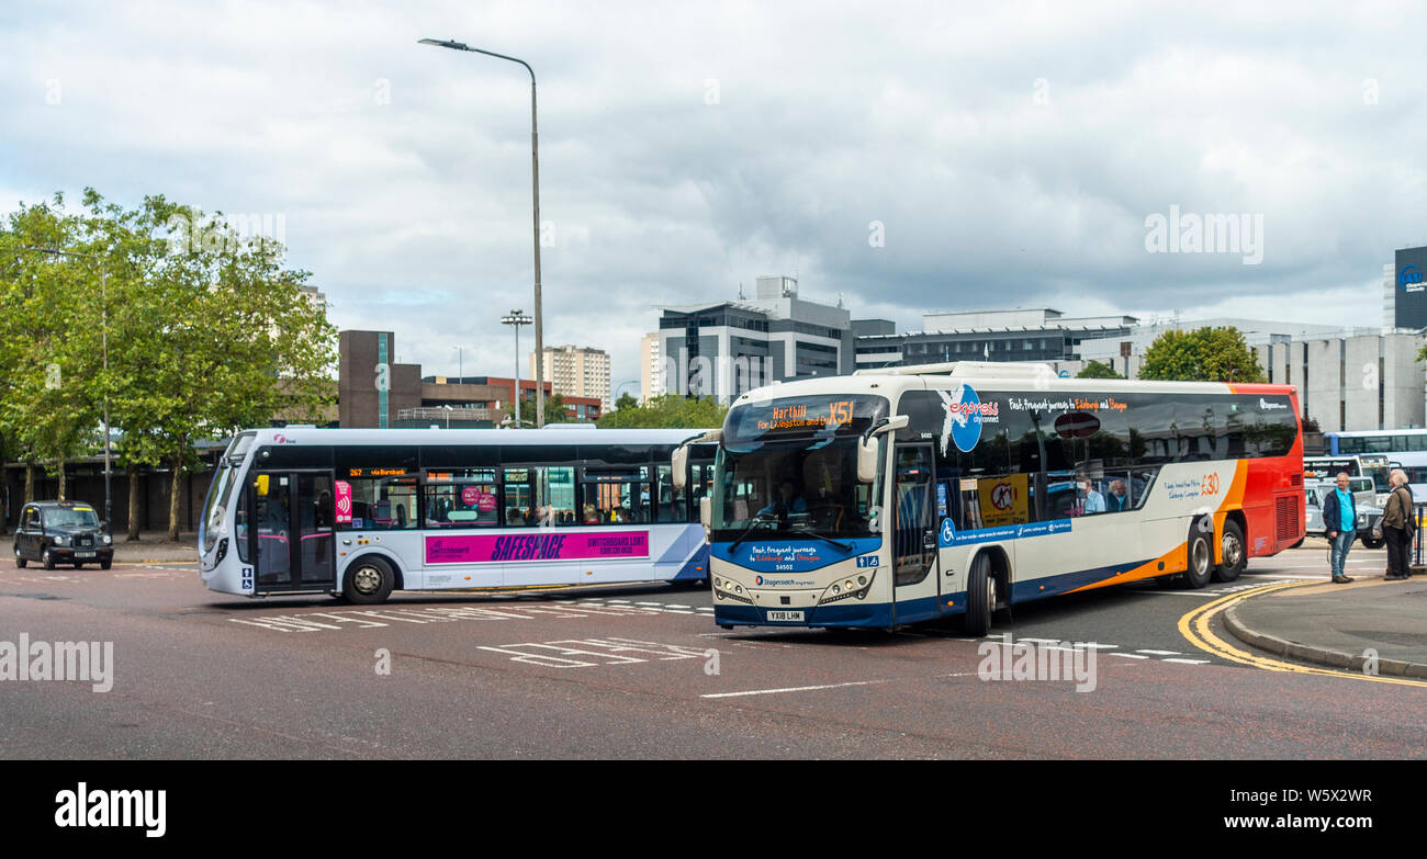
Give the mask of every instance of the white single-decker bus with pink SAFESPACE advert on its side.
[[[708, 576], [698, 430], [251, 430], [204, 507], [213, 591], [331, 592], [689, 581]], [[682, 487], [689, 487], [684, 491]]]

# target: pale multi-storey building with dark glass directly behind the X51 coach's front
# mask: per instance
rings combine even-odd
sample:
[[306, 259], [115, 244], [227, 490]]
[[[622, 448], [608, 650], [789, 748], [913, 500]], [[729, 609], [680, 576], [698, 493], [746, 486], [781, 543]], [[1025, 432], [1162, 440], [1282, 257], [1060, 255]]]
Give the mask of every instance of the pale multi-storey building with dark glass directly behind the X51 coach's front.
[[799, 298], [791, 277], [759, 277], [753, 298], [662, 311], [658, 387], [665, 392], [729, 402], [773, 381], [855, 370], [852, 314]]

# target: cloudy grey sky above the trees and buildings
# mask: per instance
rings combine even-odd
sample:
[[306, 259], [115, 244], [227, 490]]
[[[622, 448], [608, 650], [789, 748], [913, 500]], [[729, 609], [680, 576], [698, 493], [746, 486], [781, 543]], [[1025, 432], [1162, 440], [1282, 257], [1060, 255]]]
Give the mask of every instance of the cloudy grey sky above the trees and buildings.
[[[926, 310], [1371, 325], [1427, 243], [1420, 4], [67, 3], [0, 7], [0, 208], [93, 185], [285, 220], [342, 328], [508, 375], [545, 340], [636, 380], [655, 303], [759, 274]], [[1263, 261], [1146, 217], [1263, 217]], [[870, 224], [885, 247], [869, 245]], [[522, 332], [529, 345], [529, 330]], [[522, 374], [528, 364], [522, 364]]]

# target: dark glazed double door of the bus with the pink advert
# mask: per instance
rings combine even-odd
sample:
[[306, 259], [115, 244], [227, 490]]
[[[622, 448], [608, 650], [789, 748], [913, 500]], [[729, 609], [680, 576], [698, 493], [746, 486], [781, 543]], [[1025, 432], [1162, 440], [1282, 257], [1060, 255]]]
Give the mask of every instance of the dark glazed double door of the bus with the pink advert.
[[260, 471], [250, 489], [248, 529], [257, 591], [335, 586], [335, 507], [330, 471]]

